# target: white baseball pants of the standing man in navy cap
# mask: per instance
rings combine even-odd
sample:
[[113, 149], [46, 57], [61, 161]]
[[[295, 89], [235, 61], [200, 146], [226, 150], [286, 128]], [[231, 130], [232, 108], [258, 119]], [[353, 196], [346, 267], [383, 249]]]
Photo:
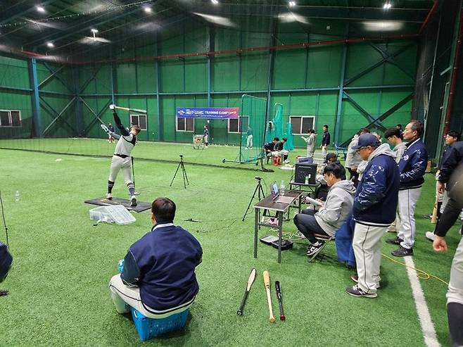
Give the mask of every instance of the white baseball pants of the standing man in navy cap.
[[376, 293], [381, 265], [381, 237], [388, 227], [355, 223], [353, 248], [357, 263], [358, 285], [366, 293]]

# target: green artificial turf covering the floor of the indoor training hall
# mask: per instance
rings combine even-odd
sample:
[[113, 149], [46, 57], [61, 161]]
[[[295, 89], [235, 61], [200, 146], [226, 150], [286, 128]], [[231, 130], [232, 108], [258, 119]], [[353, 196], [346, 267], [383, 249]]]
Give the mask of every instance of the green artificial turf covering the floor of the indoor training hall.
[[[51, 141], [55, 141], [55, 149], [61, 149], [58, 140]], [[103, 140], [89, 141], [91, 146], [106, 146]], [[179, 149], [186, 161], [196, 155], [201, 156], [196, 161], [202, 163], [216, 163], [237, 153], [230, 147], [197, 151], [182, 144], [146, 143], [137, 146], [134, 156], [157, 153], [158, 158], [162, 152], [174, 160]], [[10, 150], [0, 150], [0, 157], [0, 189], [14, 256], [11, 273], [0, 284], [0, 289], [10, 291], [0, 297], [0, 346], [424, 346], [405, 267], [383, 259], [379, 296], [367, 299], [345, 294], [345, 286], [353, 284], [349, 279], [353, 271], [336, 261], [334, 244], [326, 246], [324, 253], [330, 258], [321, 263], [307, 263], [306, 241], [296, 241], [291, 251], [284, 251], [281, 264], [277, 263], [277, 250], [263, 244], [259, 244], [255, 259], [253, 211], [245, 222], [241, 217], [255, 189], [256, 172], [187, 164], [190, 185], [184, 189], [181, 176], [169, 187], [176, 163], [150, 161], [136, 162], [139, 200], [172, 198], [177, 204], [175, 222], [196, 236], [204, 255], [196, 271], [200, 292], [185, 331], [142, 343], [132, 321], [115, 312], [108, 282], [130, 244], [150, 229], [149, 213], [135, 214], [137, 221], [132, 225], [94, 226], [89, 209], [96, 206], [83, 203], [106, 192], [110, 160]], [[58, 158], [61, 161], [56, 161]], [[241, 166], [253, 168], [236, 165]], [[269, 182], [287, 181], [291, 171], [276, 169], [257, 175], [263, 177], [267, 193]], [[448, 236], [448, 253], [434, 253], [431, 242], [424, 238], [432, 226], [422, 215], [431, 212], [434, 184], [433, 176], [426, 175], [416, 214], [414, 262], [421, 270], [448, 281], [459, 241], [457, 227]], [[15, 202], [17, 190], [20, 201]], [[127, 197], [122, 177], [113, 193]], [[202, 222], [186, 222], [189, 218]], [[284, 231], [295, 232], [296, 228], [285, 222]], [[276, 234], [260, 230], [260, 236], [269, 233]], [[4, 240], [2, 232], [0, 239]], [[383, 245], [383, 253], [393, 249]], [[251, 267], [256, 267], [258, 277], [244, 315], [239, 317], [236, 310]], [[275, 316], [274, 281], [281, 282], [284, 322], [269, 323], [264, 270], [269, 270], [272, 281]], [[449, 346], [447, 288], [435, 279], [421, 280], [421, 285], [438, 339]]]

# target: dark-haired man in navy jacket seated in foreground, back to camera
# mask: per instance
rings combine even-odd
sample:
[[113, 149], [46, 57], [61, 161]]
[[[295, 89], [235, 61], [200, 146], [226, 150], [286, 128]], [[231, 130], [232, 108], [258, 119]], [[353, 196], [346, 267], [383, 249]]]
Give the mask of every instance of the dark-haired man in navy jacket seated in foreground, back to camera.
[[130, 246], [120, 275], [109, 288], [118, 313], [129, 306], [149, 318], [180, 313], [194, 302], [199, 286], [195, 268], [203, 260], [198, 240], [173, 224], [175, 203], [156, 198], [151, 206], [151, 232]]

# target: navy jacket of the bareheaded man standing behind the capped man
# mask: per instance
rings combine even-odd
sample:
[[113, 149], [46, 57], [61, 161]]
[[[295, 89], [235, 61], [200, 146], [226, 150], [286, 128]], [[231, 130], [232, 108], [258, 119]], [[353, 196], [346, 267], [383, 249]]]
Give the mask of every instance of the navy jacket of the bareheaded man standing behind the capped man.
[[421, 139], [409, 142], [399, 162], [400, 190], [419, 188], [424, 182], [428, 151]]

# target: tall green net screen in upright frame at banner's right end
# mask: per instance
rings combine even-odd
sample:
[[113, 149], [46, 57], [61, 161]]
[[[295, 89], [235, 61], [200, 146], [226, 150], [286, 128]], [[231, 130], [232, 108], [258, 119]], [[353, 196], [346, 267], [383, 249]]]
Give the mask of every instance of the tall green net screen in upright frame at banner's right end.
[[[254, 163], [264, 157], [265, 111], [267, 99], [243, 95], [241, 97], [240, 163]], [[247, 120], [247, 121], [246, 121]]]

